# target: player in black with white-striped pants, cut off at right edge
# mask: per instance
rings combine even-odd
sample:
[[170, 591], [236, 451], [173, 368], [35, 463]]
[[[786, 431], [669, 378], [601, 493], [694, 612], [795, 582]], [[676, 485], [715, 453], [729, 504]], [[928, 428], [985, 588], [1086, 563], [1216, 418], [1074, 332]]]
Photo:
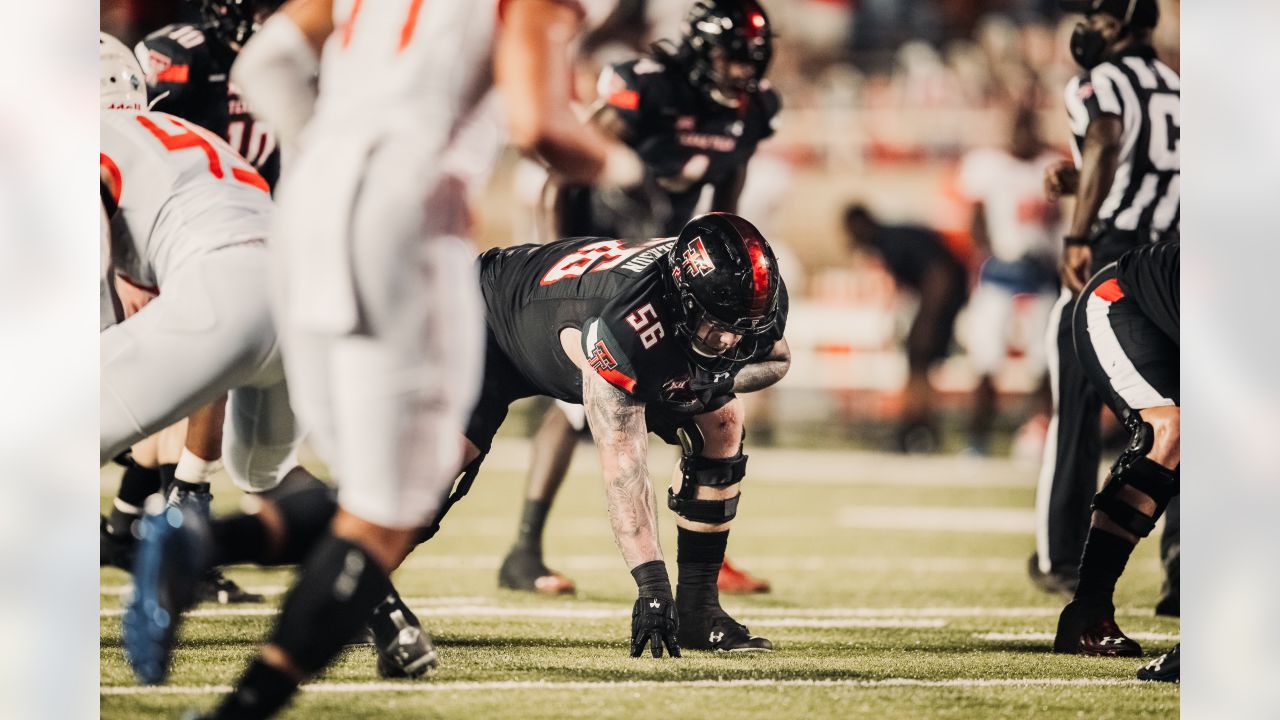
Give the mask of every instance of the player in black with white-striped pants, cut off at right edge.
[[[1112, 594], [1134, 546], [1178, 495], [1179, 246], [1170, 240], [1129, 251], [1100, 270], [1076, 301], [1080, 363], [1133, 439], [1093, 500], [1080, 583], [1059, 618], [1055, 652], [1142, 655], [1116, 626]], [[1139, 678], [1176, 682], [1178, 666], [1175, 650]]]

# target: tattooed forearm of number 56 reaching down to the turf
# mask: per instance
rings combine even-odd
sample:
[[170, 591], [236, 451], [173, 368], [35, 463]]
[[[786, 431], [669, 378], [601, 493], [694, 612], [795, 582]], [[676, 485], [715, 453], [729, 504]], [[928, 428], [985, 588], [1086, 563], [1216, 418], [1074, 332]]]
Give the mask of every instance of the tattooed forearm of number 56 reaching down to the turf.
[[644, 404], [588, 372], [582, 374], [582, 405], [600, 451], [609, 523], [622, 559], [627, 568], [662, 560], [649, 482]]

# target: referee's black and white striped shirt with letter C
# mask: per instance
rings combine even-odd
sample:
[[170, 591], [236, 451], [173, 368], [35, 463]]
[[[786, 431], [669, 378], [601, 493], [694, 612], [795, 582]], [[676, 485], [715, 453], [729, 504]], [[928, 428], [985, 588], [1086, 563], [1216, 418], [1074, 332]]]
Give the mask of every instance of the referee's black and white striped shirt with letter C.
[[1066, 83], [1066, 113], [1080, 167], [1084, 133], [1101, 115], [1124, 122], [1120, 161], [1096, 229], [1158, 240], [1179, 223], [1180, 111], [1178, 73], [1151, 47], [1132, 47]]

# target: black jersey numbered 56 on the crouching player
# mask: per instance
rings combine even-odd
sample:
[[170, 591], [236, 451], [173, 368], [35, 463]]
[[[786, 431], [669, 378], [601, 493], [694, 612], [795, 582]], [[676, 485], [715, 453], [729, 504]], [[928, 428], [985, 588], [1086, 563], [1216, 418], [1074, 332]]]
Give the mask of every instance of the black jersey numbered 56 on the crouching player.
[[543, 395], [582, 402], [582, 374], [559, 342], [561, 331], [579, 328], [582, 352], [611, 384], [643, 402], [690, 406], [701, 388], [768, 355], [786, 328], [787, 295], [783, 286], [778, 320], [755, 356], [726, 363], [719, 373], [703, 370], [690, 360], [687, 340], [676, 337], [663, 301], [673, 242], [573, 237], [490, 250], [480, 256], [489, 331]]

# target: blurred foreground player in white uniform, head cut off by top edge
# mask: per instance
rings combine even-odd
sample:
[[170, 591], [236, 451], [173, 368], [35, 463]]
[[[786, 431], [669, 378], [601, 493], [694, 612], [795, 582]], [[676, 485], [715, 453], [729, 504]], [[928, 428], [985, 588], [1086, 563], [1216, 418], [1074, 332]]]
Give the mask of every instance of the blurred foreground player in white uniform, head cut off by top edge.
[[[294, 10], [325, 4], [297, 0]], [[325, 37], [324, 13], [283, 13], [301, 20], [301, 37]], [[332, 3], [316, 110], [285, 168], [271, 237], [287, 373], [339, 482], [338, 509], [215, 717], [274, 715], [329, 664], [385, 596], [388, 573], [434, 521], [463, 461], [484, 320], [466, 182], [440, 159], [481, 97], [497, 83], [511, 141], [567, 181], [643, 179], [632, 150], [570, 108], [566, 44], [582, 17], [576, 0]], [[189, 524], [156, 520], [143, 544], [164, 556], [155, 584], [172, 591], [189, 582], [183, 559], [201, 543]], [[172, 592], [156, 597], [164, 628], [143, 630], [164, 635], [156, 660], [166, 662], [183, 607], [164, 600]]]

